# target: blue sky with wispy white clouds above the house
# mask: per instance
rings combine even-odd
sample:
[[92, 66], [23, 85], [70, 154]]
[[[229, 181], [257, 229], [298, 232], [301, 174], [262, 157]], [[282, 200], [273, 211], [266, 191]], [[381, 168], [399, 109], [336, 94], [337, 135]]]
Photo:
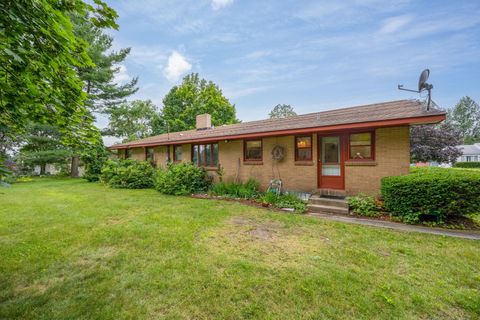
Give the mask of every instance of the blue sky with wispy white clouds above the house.
[[302, 114], [424, 98], [397, 85], [416, 88], [425, 68], [440, 107], [480, 102], [480, 1], [106, 2], [119, 14], [114, 49], [131, 48], [117, 80], [138, 76], [131, 99], [159, 109], [191, 72], [215, 82], [242, 121], [279, 103]]

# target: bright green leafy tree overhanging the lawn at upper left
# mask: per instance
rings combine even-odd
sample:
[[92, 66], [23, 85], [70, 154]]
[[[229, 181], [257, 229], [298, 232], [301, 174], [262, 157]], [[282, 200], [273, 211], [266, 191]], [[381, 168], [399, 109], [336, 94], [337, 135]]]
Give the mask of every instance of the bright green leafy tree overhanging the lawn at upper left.
[[72, 15], [88, 16], [99, 28], [117, 28], [116, 12], [101, 0], [0, 2], [0, 130], [8, 128], [2, 131], [7, 139], [31, 123], [65, 133], [93, 126], [78, 73], [93, 63], [88, 44], [73, 32]]

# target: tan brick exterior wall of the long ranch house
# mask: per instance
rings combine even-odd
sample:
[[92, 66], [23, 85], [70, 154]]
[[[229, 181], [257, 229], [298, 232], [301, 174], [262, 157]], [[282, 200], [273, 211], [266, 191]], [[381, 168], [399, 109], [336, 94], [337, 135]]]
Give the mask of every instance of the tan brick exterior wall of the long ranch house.
[[[285, 190], [315, 192], [317, 190], [317, 135], [312, 135], [313, 159], [308, 162], [295, 162], [295, 137], [263, 138], [263, 161], [248, 163], [243, 160], [243, 140], [219, 141], [219, 163], [223, 167], [224, 181], [242, 181], [254, 178], [262, 189], [270, 180], [281, 179]], [[272, 160], [271, 151], [276, 146], [284, 148], [284, 159]], [[155, 147], [157, 167], [167, 163], [167, 146]], [[345, 164], [345, 190], [347, 194], [359, 192], [376, 194], [380, 179], [384, 176], [408, 174], [410, 164], [410, 143], [408, 127], [379, 128], [375, 131], [375, 162]], [[145, 160], [144, 148], [132, 148], [132, 158]], [[170, 147], [173, 160], [173, 146]], [[182, 145], [182, 161], [191, 161], [191, 145]], [[208, 168], [217, 180], [217, 168]]]

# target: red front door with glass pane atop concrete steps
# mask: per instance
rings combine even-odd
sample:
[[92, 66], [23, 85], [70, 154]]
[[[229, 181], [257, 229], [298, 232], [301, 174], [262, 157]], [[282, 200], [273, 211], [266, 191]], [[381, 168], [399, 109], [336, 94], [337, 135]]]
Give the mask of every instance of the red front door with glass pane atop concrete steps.
[[318, 136], [318, 187], [345, 189], [343, 136]]

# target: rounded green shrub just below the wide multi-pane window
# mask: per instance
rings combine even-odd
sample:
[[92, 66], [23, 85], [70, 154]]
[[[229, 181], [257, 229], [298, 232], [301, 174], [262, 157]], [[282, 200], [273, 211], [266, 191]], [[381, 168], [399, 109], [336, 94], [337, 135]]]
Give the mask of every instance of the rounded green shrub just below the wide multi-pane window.
[[157, 171], [155, 189], [164, 194], [187, 195], [206, 191], [211, 184], [207, 171], [192, 163], [171, 163]]

